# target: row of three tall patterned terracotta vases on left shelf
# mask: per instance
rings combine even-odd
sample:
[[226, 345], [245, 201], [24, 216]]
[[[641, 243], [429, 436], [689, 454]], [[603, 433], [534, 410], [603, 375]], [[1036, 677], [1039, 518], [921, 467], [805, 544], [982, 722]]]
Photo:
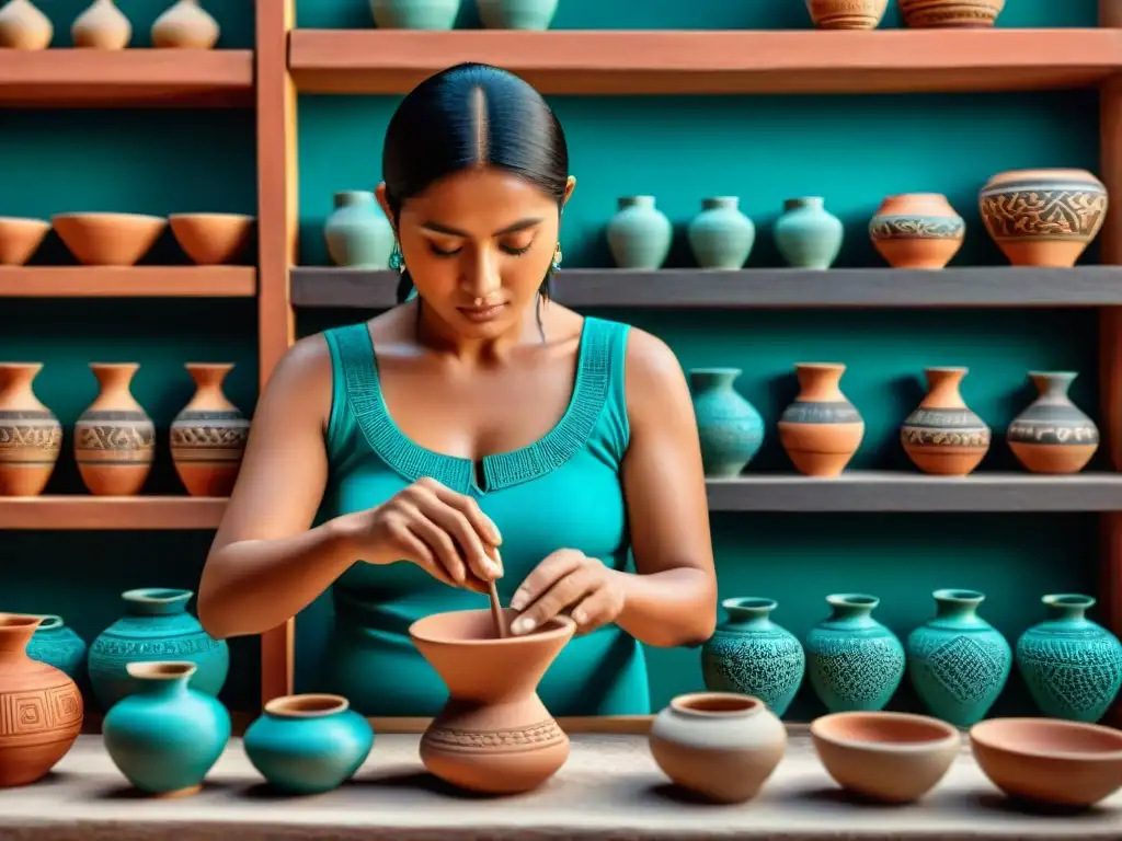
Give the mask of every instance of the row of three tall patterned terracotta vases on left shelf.
[[[74, 460], [98, 496], [140, 492], [156, 458], [156, 426], [129, 388], [136, 362], [90, 364], [99, 392], [74, 424]], [[176, 473], [194, 497], [228, 497], [241, 466], [249, 419], [227, 398], [229, 362], [190, 362], [195, 394], [169, 431]], [[40, 362], [0, 363], [0, 497], [36, 497], [62, 453], [63, 427], [36, 396]]]

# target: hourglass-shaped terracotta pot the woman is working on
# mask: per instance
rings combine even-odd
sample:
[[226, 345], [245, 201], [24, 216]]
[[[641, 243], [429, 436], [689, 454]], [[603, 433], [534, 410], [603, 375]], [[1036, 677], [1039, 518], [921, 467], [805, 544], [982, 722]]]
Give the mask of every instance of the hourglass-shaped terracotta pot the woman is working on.
[[[517, 611], [506, 609], [507, 627]], [[498, 638], [490, 610], [419, 619], [410, 637], [448, 686], [449, 699], [421, 737], [432, 774], [475, 792], [515, 794], [552, 777], [569, 737], [537, 696], [537, 684], [572, 638], [559, 616], [526, 635]]]

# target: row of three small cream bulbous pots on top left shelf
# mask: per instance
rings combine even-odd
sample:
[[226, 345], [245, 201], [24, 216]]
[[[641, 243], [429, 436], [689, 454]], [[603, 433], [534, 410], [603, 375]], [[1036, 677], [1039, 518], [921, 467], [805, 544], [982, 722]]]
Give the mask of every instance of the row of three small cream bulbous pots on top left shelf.
[[[0, 47], [46, 49], [55, 28], [50, 18], [31, 0], [10, 0], [0, 9]], [[151, 25], [154, 47], [210, 49], [221, 29], [199, 0], [176, 0]], [[132, 25], [113, 0], [93, 0], [71, 26], [75, 47], [125, 49], [132, 39]]]

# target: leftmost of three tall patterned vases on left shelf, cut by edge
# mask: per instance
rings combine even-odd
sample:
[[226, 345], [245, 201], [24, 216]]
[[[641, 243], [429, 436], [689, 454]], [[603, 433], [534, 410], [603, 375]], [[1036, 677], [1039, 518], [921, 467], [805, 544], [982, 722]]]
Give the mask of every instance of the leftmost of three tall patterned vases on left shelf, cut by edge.
[[58, 463], [63, 427], [35, 396], [42, 362], [0, 363], [0, 497], [37, 497]]

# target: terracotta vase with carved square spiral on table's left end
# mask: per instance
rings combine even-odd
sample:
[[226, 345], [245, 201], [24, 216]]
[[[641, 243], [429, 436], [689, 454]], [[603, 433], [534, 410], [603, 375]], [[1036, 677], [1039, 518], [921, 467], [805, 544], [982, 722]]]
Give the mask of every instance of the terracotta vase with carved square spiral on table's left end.
[[0, 613], [0, 787], [46, 776], [82, 730], [82, 693], [74, 681], [27, 656], [43, 621]]

